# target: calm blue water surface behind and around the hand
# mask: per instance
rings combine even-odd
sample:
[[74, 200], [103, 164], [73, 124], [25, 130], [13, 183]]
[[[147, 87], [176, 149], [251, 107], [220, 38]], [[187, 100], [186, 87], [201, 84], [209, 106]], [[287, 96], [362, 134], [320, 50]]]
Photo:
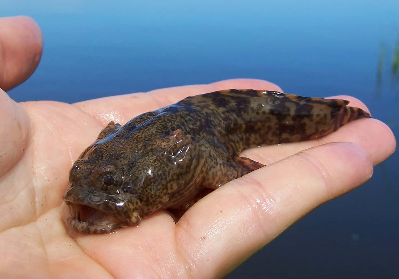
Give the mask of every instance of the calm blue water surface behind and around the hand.
[[[73, 103], [260, 78], [293, 94], [355, 96], [399, 136], [391, 66], [397, 0], [0, 0], [0, 7], [0, 16], [34, 18], [45, 39], [36, 72], [8, 92], [17, 101]], [[398, 157], [226, 278], [399, 278]]]

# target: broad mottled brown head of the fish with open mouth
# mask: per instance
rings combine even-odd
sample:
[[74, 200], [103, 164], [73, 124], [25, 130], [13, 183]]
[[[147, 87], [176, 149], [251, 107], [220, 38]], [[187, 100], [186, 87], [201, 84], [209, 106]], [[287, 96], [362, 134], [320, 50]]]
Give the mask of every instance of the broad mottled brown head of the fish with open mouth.
[[[198, 186], [206, 159], [191, 135], [97, 139], [73, 164], [63, 200], [67, 224], [83, 234], [137, 225], [154, 211], [185, 199]], [[106, 139], [106, 140], [105, 140]]]

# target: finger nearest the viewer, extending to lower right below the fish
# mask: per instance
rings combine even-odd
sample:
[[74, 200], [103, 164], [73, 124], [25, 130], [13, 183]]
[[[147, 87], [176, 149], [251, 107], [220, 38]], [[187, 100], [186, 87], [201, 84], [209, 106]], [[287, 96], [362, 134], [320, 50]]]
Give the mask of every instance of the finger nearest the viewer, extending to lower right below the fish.
[[196, 203], [176, 224], [178, 250], [192, 277], [226, 274], [318, 205], [367, 181], [372, 172], [371, 158], [356, 144], [304, 150]]

